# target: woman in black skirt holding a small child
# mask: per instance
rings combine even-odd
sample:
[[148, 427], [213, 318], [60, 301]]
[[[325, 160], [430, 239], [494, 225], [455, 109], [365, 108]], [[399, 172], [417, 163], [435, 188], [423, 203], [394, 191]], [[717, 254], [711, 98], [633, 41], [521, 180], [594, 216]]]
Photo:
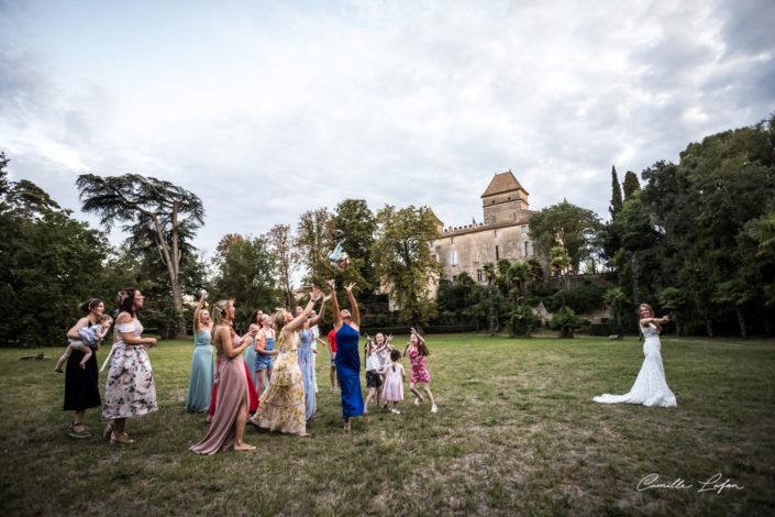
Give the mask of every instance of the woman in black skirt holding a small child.
[[[68, 339], [80, 339], [78, 331], [84, 327], [96, 324], [102, 312], [104, 304], [102, 300], [91, 298], [80, 305], [80, 310], [86, 315], [67, 331]], [[90, 407], [98, 407], [102, 404], [100, 389], [97, 384], [99, 372], [97, 371], [97, 353], [91, 354], [91, 359], [86, 362], [85, 367], [80, 366], [84, 353], [77, 350], [67, 360], [65, 370], [65, 411], [75, 411], [70, 424], [69, 436], [73, 438], [89, 438], [91, 433], [84, 425], [84, 416]]]

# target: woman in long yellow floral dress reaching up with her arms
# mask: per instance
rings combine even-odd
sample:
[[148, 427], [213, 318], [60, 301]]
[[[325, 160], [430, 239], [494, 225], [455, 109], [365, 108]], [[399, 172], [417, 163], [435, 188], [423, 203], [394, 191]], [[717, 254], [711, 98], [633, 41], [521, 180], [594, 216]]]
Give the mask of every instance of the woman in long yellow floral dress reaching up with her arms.
[[258, 410], [251, 422], [270, 431], [307, 436], [305, 418], [305, 383], [299, 369], [299, 333], [305, 321], [310, 317], [314, 302], [323, 296], [317, 287], [310, 293], [307, 307], [296, 318], [280, 309], [272, 317], [277, 329], [277, 350], [275, 365], [272, 370], [269, 387], [261, 396]]

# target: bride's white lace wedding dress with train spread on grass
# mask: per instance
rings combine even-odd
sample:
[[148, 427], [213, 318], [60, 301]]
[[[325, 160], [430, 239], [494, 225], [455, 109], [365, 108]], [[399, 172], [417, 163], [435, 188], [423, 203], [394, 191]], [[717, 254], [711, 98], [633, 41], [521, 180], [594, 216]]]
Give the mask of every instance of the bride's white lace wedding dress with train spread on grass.
[[678, 403], [667, 387], [665, 369], [662, 365], [660, 332], [654, 326], [641, 327], [643, 342], [643, 365], [638, 373], [632, 389], [624, 395], [599, 395], [593, 400], [601, 404], [642, 404], [644, 406], [673, 407]]

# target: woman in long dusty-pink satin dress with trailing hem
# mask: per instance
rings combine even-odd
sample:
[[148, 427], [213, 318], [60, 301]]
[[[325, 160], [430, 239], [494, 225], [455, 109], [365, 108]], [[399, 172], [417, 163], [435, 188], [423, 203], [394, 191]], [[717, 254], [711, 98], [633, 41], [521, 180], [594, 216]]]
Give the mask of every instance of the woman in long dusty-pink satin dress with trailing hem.
[[214, 454], [226, 449], [252, 451], [244, 441], [248, 409], [248, 377], [242, 352], [252, 344], [251, 334], [242, 339], [232, 328], [234, 300], [220, 300], [212, 310], [212, 343], [218, 350], [219, 388], [215, 415], [204, 439], [189, 449], [197, 454]]

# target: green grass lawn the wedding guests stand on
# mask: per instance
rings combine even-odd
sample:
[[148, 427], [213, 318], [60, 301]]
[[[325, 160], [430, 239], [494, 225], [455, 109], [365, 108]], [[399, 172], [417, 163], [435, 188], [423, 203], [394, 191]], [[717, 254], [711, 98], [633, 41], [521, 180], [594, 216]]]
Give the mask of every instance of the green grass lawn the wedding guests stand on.
[[[126, 448], [98, 438], [99, 410], [87, 411], [96, 437], [67, 437], [64, 375], [52, 371], [64, 344], [45, 349], [51, 361], [19, 361], [40, 350], [0, 350], [0, 510], [775, 514], [775, 341], [663, 339], [678, 398], [669, 409], [591, 402], [630, 389], [642, 362], [634, 338], [428, 342], [436, 415], [428, 403], [413, 406], [405, 387], [401, 415], [373, 408], [344, 435], [321, 352], [311, 438], [248, 426], [257, 451], [214, 457], [187, 452], [208, 427], [202, 415], [182, 410], [192, 341], [151, 350], [159, 411], [129, 421], [137, 443]], [[98, 352], [100, 364], [106, 352]], [[100, 384], [103, 391], [104, 374]], [[639, 491], [649, 474], [674, 487]], [[700, 492], [715, 474], [743, 488]]]

